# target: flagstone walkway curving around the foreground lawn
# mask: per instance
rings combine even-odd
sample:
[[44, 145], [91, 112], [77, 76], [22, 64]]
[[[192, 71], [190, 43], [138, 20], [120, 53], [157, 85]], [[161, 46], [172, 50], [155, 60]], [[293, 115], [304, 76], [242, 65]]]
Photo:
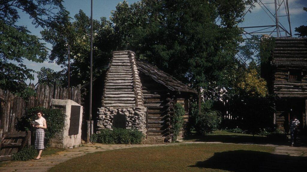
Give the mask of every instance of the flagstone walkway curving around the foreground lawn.
[[[200, 143], [221, 143], [221, 142], [185, 142], [185, 144], [200, 144]], [[62, 163], [68, 159], [79, 157], [87, 153], [107, 151], [123, 148], [134, 147], [151, 147], [173, 144], [141, 144], [141, 145], [106, 145], [106, 144], [86, 144], [85, 146], [67, 149], [58, 152], [56, 155], [42, 156], [40, 160], [15, 161], [5, 164], [0, 168], [0, 172], [46, 172], [53, 166]], [[305, 163], [307, 163], [307, 148], [306, 147], [289, 147], [289, 146], [274, 146], [275, 151], [270, 157], [267, 157], [265, 163], [261, 165], [261, 171], [298, 171]], [[294, 168], [291, 167], [294, 164]], [[39, 166], [39, 167], [38, 167]], [[301, 171], [301, 170], [300, 170]], [[304, 171], [304, 170], [303, 170]]]

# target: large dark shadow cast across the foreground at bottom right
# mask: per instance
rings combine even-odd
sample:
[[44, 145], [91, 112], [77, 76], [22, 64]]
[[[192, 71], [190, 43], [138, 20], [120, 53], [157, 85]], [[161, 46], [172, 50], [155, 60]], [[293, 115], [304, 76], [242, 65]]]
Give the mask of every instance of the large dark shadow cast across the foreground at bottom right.
[[259, 151], [216, 152], [205, 161], [199, 161], [190, 167], [211, 168], [235, 172], [253, 171], [298, 171], [305, 168], [307, 157], [274, 155]]

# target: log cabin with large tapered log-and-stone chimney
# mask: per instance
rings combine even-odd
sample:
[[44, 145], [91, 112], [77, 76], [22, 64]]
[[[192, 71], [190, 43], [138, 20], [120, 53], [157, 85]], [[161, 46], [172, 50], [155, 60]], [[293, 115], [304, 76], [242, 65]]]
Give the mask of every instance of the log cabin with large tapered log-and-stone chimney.
[[138, 129], [147, 143], [169, 141], [174, 103], [182, 104], [187, 122], [189, 101], [196, 94], [156, 66], [136, 61], [134, 52], [115, 51], [104, 80], [97, 129]]

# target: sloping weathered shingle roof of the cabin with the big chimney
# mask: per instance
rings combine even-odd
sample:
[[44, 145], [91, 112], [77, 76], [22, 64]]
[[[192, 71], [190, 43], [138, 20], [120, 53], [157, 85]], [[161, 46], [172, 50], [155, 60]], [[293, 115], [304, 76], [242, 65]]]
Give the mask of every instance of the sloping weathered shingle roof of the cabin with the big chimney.
[[165, 87], [172, 91], [191, 92], [195, 94], [197, 93], [194, 89], [188, 87], [187, 85], [175, 79], [173, 76], [158, 69], [156, 66], [150, 65], [146, 62], [137, 61], [136, 63], [139, 71], [149, 76], [156, 82], [163, 84]]

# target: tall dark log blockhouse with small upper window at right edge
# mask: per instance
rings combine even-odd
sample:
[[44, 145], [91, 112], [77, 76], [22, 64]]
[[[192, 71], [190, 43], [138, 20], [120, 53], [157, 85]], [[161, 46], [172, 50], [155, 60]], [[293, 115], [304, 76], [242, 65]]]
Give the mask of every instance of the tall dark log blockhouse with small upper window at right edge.
[[307, 42], [304, 38], [275, 38], [270, 64], [262, 65], [270, 92], [275, 98], [274, 124], [289, 131], [293, 115], [306, 129], [307, 105]]

